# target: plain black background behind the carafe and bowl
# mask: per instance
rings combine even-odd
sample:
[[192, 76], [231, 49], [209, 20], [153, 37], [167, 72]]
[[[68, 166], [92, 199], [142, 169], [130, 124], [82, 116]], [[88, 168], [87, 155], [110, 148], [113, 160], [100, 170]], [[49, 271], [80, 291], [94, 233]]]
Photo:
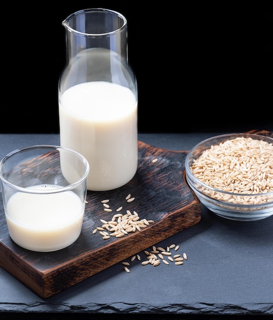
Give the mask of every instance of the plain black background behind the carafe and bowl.
[[10, 2], [2, 11], [0, 132], [59, 132], [62, 21], [92, 7], [127, 17], [139, 132], [273, 131], [272, 3]]

